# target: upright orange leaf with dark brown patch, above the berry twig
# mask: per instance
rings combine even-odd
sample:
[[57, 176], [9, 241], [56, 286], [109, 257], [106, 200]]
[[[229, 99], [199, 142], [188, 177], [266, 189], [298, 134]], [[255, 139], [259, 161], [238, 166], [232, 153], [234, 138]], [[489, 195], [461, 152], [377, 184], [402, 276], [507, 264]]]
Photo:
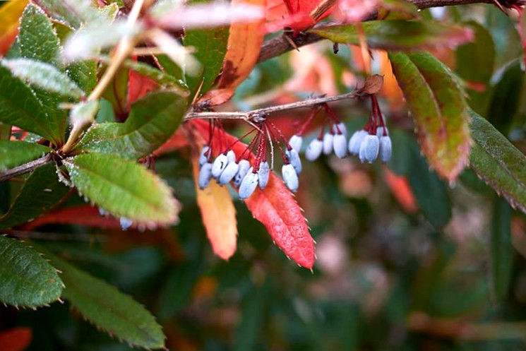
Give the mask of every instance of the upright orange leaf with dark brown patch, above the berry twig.
[[[264, 7], [266, 0], [232, 0], [233, 6], [237, 4]], [[265, 18], [251, 23], [234, 23], [230, 26], [227, 54], [217, 88], [234, 89], [249, 76], [258, 61], [263, 43], [263, 25]]]

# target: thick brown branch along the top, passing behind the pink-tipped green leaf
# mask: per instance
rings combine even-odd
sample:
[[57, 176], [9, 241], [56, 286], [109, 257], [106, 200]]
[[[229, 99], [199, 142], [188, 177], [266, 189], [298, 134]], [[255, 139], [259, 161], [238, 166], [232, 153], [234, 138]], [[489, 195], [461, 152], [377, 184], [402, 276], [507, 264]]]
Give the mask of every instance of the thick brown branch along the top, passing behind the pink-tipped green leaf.
[[[414, 4], [414, 6], [417, 6], [417, 8], [421, 10], [423, 10], [424, 8], [430, 8], [430, 7], [456, 6], [456, 5], [467, 5], [467, 4], [493, 4], [494, 2], [492, 0], [409, 0], [409, 1], [412, 4]], [[374, 20], [374, 19], [376, 19], [376, 14], [374, 14], [373, 16], [369, 16], [369, 18], [365, 18], [364, 20]], [[288, 35], [279, 35], [263, 43], [263, 46], [261, 47], [261, 52], [259, 53], [259, 56], [258, 56], [258, 62], [263, 62], [268, 59], [272, 59], [273, 57], [285, 54], [285, 52], [295, 50], [298, 47], [303, 47], [308, 44], [319, 42], [320, 40], [323, 40], [323, 39], [324, 38], [320, 37], [319, 35], [307, 32], [302, 35], [299, 35], [297, 38], [294, 39], [294, 44], [296, 44], [296, 47], [293, 47], [292, 44], [290, 44], [290, 41], [292, 39]]]

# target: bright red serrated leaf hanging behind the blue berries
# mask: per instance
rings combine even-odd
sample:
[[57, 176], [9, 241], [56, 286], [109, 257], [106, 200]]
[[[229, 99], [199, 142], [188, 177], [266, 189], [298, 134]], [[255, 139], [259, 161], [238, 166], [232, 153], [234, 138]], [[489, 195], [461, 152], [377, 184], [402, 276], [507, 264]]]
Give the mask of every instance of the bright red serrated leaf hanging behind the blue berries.
[[[208, 139], [208, 122], [190, 121], [189, 127], [198, 131], [205, 140]], [[213, 138], [222, 138], [225, 145], [232, 145], [237, 140], [234, 136], [220, 131], [215, 131]], [[232, 150], [240, 155], [245, 148], [244, 143], [235, 143]], [[253, 160], [252, 154], [249, 154], [249, 160]], [[316, 258], [314, 240], [301, 208], [281, 179], [271, 172], [265, 190], [256, 189], [254, 194], [246, 199], [245, 204], [254, 218], [265, 225], [270, 237], [289, 258], [300, 266], [312, 268]]]

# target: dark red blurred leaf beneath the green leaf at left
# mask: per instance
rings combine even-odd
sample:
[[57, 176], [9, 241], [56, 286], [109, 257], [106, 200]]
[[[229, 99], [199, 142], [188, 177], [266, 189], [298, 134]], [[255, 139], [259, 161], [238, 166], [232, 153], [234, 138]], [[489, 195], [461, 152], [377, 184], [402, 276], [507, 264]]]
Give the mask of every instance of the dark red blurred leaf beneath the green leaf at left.
[[120, 228], [119, 221], [113, 217], [102, 217], [96, 207], [90, 205], [80, 205], [68, 208], [61, 208], [46, 213], [36, 220], [23, 225], [23, 230], [33, 230], [42, 225], [62, 224], [62, 225], [85, 225], [88, 227], [99, 228]]

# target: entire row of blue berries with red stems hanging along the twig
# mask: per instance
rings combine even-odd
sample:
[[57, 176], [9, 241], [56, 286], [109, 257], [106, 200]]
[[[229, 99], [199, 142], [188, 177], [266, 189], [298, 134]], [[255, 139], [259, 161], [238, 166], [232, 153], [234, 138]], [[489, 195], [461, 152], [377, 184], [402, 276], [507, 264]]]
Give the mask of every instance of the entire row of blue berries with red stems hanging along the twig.
[[[269, 174], [273, 172], [275, 145], [282, 157], [283, 182], [291, 191], [297, 191], [298, 175], [301, 173], [299, 153], [303, 144], [302, 134], [322, 110], [325, 111], [323, 126], [318, 137], [307, 145], [306, 160], [316, 160], [321, 153], [325, 155], [334, 153], [337, 157], [344, 158], [348, 152], [351, 155], [358, 155], [361, 162], [371, 163], [378, 157], [382, 162], [388, 162], [391, 157], [391, 141], [375, 95], [371, 95], [371, 105], [371, 117], [366, 126], [363, 130], [355, 132], [348, 143], [345, 124], [336, 117], [327, 104], [313, 107], [299, 131], [288, 141], [275, 124], [265, 116], [258, 116], [253, 118], [255, 128], [232, 145], [222, 145], [221, 140], [215, 141], [213, 138], [217, 135], [215, 129], [224, 133], [222, 125], [220, 121], [213, 120], [210, 122], [208, 144], [203, 147], [199, 156], [198, 185], [201, 189], [205, 189], [212, 179], [221, 186], [232, 182], [232, 185], [238, 188], [239, 198], [249, 198], [258, 186], [263, 190], [268, 184]], [[232, 147], [252, 133], [256, 133], [256, 136], [240, 155], [236, 155]], [[217, 150], [219, 152], [216, 152]], [[269, 150], [270, 162], [268, 162]], [[217, 157], [213, 158], [213, 155]]]

